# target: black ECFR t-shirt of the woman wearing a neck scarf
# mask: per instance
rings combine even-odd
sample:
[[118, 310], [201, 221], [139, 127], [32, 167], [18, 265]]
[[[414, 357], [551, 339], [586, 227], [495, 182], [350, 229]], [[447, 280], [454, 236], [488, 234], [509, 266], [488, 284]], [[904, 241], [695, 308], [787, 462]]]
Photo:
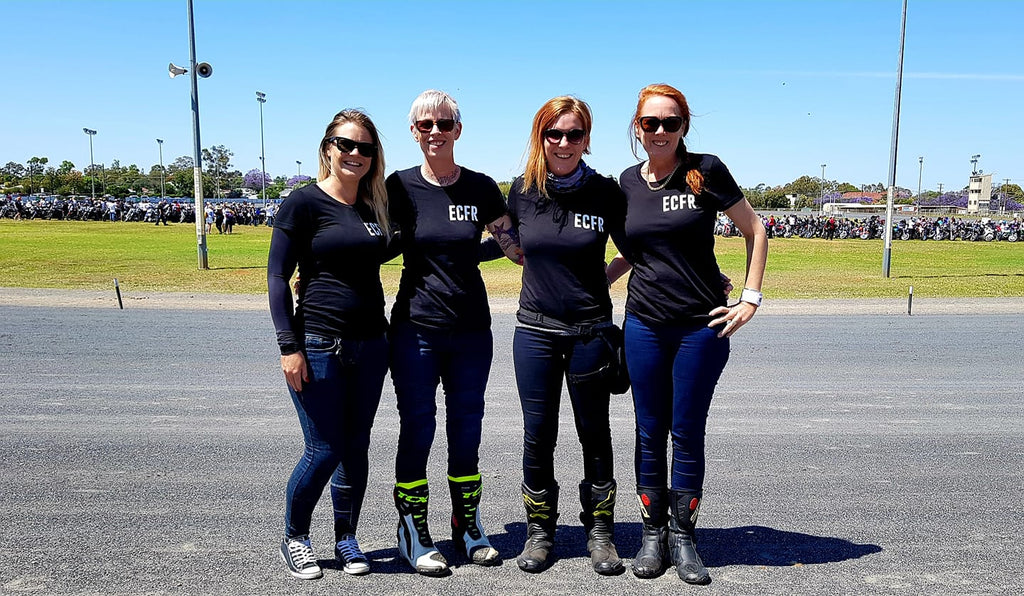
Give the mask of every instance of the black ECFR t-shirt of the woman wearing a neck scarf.
[[[611, 318], [604, 272], [609, 235], [620, 246], [626, 200], [611, 178], [592, 175], [577, 190], [541, 197], [512, 182], [509, 214], [519, 229], [525, 264], [520, 310], [566, 325]], [[519, 321], [538, 325], [520, 312]]]

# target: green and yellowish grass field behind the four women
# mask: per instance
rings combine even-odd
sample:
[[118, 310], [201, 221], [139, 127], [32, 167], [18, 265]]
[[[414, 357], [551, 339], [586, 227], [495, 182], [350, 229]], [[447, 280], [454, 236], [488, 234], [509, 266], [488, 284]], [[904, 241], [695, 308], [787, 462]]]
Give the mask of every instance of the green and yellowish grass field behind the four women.
[[[191, 224], [0, 220], [0, 287], [258, 294], [266, 292], [265, 226], [236, 226], [207, 237], [209, 270], [197, 268]], [[1024, 243], [893, 243], [891, 278], [882, 276], [882, 241], [770, 241], [764, 291], [772, 298], [1024, 296]], [[719, 239], [719, 264], [738, 286], [741, 239]], [[613, 251], [609, 250], [609, 257]], [[400, 259], [386, 264], [394, 293]], [[481, 265], [492, 296], [519, 291], [519, 268], [505, 260]], [[620, 282], [613, 292], [625, 292]]]

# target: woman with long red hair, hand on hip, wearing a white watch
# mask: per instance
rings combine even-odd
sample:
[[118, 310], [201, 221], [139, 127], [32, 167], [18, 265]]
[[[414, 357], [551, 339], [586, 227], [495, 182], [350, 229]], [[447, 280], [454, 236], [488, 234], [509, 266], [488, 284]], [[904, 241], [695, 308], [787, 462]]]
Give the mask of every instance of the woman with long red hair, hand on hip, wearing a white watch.
[[[729, 358], [729, 337], [761, 304], [768, 256], [764, 225], [716, 156], [693, 154], [686, 97], [670, 85], [640, 91], [630, 123], [633, 153], [647, 154], [618, 182], [627, 197], [632, 273], [626, 301], [626, 360], [636, 412], [635, 472], [643, 519], [633, 572], [658, 576], [667, 562], [689, 584], [711, 576], [696, 551], [703, 492], [705, 427], [715, 385]], [[746, 242], [739, 301], [726, 304], [715, 260], [715, 219], [724, 211]], [[630, 268], [621, 255], [613, 281]], [[671, 476], [667, 440], [672, 436]], [[666, 487], [671, 478], [670, 488]]]

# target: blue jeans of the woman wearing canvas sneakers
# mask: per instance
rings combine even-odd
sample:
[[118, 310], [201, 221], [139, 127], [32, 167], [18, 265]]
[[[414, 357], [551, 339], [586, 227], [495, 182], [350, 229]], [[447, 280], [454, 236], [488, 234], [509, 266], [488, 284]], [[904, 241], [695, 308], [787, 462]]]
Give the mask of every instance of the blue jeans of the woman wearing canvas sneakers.
[[309, 382], [289, 388], [305, 450], [288, 480], [285, 536], [309, 534], [313, 507], [328, 481], [335, 539], [354, 533], [367, 492], [370, 428], [387, 373], [387, 339], [306, 335]]

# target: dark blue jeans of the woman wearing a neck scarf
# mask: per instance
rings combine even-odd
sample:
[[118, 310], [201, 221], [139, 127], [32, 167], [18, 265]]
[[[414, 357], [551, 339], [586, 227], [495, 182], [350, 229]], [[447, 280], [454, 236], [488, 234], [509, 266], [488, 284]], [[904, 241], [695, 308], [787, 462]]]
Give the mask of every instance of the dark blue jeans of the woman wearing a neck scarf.
[[523, 482], [535, 491], [555, 484], [555, 443], [562, 378], [568, 385], [577, 436], [583, 448], [584, 480], [613, 478], [610, 394], [597, 374], [609, 358], [609, 348], [596, 336], [556, 335], [517, 327], [512, 340], [516, 385], [522, 406]]

